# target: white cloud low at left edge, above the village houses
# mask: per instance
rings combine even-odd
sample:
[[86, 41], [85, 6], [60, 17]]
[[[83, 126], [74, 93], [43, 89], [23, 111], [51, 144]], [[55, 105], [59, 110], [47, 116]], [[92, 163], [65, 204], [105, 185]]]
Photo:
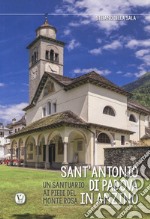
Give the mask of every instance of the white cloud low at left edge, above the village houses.
[[27, 103], [13, 104], [13, 105], [0, 105], [0, 119], [6, 124], [11, 122], [13, 118], [17, 120], [24, 114], [23, 108]]

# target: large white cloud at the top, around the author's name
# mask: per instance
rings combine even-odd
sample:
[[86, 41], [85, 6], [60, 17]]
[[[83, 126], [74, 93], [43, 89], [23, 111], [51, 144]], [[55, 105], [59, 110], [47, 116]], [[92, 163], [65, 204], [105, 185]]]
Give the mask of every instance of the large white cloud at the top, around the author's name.
[[[116, 15], [116, 14], [131, 14], [132, 9], [142, 8], [147, 9], [150, 5], [150, 0], [64, 0], [62, 11], [64, 13], [75, 13], [82, 16], [82, 22], [71, 22], [70, 25], [79, 26], [85, 23], [92, 22], [102, 29], [107, 31], [115, 30], [124, 25], [125, 22], [118, 21], [97, 21], [97, 15]], [[58, 9], [57, 9], [58, 10]], [[87, 16], [88, 15], [88, 21]]]

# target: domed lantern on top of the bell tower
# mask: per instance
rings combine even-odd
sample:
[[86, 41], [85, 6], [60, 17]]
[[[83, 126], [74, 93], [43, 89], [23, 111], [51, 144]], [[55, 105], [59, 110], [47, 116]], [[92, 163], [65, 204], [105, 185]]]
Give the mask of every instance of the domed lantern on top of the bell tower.
[[56, 28], [48, 23], [46, 19], [44, 24], [36, 29], [36, 37], [45, 36], [48, 38], [56, 39]]

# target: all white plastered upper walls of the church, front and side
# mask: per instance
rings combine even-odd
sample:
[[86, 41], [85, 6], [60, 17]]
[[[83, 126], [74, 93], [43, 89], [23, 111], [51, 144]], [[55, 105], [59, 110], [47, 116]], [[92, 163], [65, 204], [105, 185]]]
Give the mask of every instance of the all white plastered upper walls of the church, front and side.
[[[135, 132], [130, 136], [132, 141], [139, 141], [145, 134], [145, 116], [127, 110], [126, 96], [92, 84], [84, 84], [69, 91], [64, 91], [56, 82], [54, 86], [55, 92], [45, 97], [42, 93], [36, 106], [27, 111], [27, 124], [42, 118], [42, 108], [48, 101], [56, 101], [57, 112], [70, 110], [86, 122]], [[111, 106], [116, 115], [103, 114], [105, 106]], [[136, 123], [129, 121], [131, 113], [136, 117]], [[116, 144], [120, 145], [120, 136], [117, 139]]]

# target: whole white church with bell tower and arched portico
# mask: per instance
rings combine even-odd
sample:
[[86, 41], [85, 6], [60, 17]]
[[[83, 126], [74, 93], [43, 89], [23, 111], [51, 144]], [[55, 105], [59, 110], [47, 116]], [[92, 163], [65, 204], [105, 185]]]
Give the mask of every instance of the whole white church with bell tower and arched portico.
[[11, 150], [29, 167], [104, 165], [104, 148], [141, 143], [150, 111], [129, 101], [130, 93], [96, 72], [65, 77], [64, 43], [56, 32], [46, 20], [27, 47], [27, 126], [9, 136]]

